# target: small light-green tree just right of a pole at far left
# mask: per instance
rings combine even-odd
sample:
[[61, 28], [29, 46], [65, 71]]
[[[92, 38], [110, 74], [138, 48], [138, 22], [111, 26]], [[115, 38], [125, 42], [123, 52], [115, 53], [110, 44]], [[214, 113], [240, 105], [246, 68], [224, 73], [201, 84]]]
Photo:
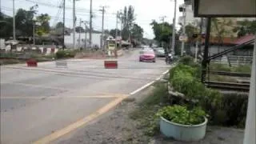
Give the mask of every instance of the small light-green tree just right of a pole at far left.
[[50, 16], [48, 14], [40, 14], [36, 20], [39, 23], [36, 33], [39, 36], [42, 36], [42, 34], [48, 34], [50, 32]]

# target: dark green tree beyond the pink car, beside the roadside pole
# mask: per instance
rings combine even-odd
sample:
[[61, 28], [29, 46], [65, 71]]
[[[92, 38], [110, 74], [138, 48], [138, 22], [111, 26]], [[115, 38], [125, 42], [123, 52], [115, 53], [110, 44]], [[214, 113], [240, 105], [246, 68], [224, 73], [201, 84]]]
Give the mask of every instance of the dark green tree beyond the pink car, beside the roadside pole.
[[154, 31], [154, 40], [157, 42], [166, 42], [170, 43], [170, 38], [172, 36], [172, 25], [168, 22], [158, 23], [155, 20], [150, 23]]

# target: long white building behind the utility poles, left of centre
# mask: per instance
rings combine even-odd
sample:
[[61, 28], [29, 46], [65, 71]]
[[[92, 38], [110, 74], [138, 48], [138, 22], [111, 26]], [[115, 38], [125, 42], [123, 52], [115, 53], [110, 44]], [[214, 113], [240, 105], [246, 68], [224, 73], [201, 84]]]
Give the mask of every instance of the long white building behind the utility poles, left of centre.
[[[75, 48], [79, 48], [79, 47], [85, 47], [85, 39], [86, 39], [86, 46], [89, 47], [89, 33], [81, 33], [80, 34], [80, 46], [79, 46], [79, 33], [75, 33]], [[92, 38], [92, 46], [98, 46], [100, 47], [101, 44], [101, 35], [102, 34], [91, 34]], [[71, 33], [70, 35], [65, 35], [65, 46], [67, 48], [73, 48], [73, 33]]]

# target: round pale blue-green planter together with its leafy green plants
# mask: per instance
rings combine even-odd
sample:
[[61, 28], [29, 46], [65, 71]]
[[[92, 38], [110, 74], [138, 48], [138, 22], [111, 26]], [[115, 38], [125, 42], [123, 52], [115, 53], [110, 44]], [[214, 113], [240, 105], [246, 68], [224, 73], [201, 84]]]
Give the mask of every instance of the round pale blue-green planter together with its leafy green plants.
[[205, 137], [208, 120], [199, 107], [188, 110], [186, 106], [166, 106], [157, 115], [160, 131], [166, 137], [180, 141], [198, 141]]

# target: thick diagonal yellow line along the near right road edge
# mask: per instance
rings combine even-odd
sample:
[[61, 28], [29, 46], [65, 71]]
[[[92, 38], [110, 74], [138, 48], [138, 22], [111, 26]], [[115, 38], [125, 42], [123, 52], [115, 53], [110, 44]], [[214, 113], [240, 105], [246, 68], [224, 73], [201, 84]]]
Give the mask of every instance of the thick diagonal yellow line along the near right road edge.
[[127, 97], [128, 97], [128, 95], [122, 95], [119, 98], [115, 98], [112, 102], [108, 103], [106, 106], [103, 106], [101, 109], [95, 111], [94, 113], [90, 114], [89, 116], [82, 118], [82, 119], [78, 120], [77, 122], [74, 122], [61, 130], [55, 131], [53, 134], [47, 135], [46, 137], [41, 138], [36, 142], [33, 142], [33, 144], [50, 143], [50, 142], [54, 141], [55, 139], [62, 137], [64, 134], [68, 134], [71, 131], [78, 129], [78, 127], [86, 125], [86, 123], [90, 122], [94, 118], [97, 118], [101, 114], [106, 113], [108, 110], [110, 110], [114, 106], [117, 106], [119, 102], [122, 102], [122, 100]]

